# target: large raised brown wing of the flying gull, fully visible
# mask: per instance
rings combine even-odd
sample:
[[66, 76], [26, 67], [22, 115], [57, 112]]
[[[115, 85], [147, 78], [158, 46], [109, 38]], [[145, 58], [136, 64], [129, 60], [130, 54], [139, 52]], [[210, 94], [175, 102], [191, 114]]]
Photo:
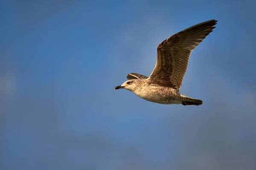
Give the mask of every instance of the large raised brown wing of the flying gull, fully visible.
[[157, 46], [157, 62], [149, 76], [151, 83], [180, 89], [191, 51], [212, 32], [217, 20], [189, 27]]

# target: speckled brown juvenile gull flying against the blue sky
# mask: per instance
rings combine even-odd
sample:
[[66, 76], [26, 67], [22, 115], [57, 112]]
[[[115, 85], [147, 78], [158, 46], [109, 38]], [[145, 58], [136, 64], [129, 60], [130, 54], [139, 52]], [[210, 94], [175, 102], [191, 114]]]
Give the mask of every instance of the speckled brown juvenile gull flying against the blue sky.
[[202, 105], [202, 100], [179, 91], [192, 50], [212, 32], [216, 23], [217, 20], [205, 21], [167, 38], [157, 46], [157, 62], [149, 77], [130, 73], [128, 80], [114, 89], [125, 88], [149, 102]]

